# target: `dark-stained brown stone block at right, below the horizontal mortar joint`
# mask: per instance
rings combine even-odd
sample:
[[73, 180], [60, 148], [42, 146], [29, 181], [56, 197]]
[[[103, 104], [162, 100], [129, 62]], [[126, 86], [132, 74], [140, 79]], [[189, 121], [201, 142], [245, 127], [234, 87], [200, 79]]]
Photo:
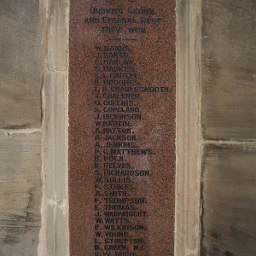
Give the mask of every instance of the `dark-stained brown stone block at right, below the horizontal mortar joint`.
[[256, 148], [207, 145], [201, 256], [256, 255]]

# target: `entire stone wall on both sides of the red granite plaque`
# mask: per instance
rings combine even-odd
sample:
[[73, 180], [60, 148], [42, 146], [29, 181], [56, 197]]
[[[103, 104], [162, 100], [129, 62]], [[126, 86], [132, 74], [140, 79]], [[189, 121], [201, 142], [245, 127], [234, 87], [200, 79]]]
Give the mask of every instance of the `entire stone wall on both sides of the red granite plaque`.
[[[0, 255], [69, 255], [68, 1], [0, 3]], [[252, 256], [253, 0], [177, 0], [175, 255]]]

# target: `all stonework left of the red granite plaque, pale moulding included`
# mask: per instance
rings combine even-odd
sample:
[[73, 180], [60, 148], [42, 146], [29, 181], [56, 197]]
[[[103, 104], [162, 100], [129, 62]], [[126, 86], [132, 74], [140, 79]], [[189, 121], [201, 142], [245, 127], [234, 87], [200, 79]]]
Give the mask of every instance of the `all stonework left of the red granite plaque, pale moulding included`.
[[68, 2], [0, 3], [0, 255], [67, 255]]

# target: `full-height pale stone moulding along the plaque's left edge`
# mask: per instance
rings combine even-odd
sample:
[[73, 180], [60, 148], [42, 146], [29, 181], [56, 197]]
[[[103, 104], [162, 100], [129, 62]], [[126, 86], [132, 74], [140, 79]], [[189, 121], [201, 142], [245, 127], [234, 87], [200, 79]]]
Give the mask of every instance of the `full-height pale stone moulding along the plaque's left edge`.
[[[67, 195], [68, 0], [44, 1], [47, 40], [42, 255], [69, 255]], [[44, 247], [45, 246], [45, 247]], [[44, 252], [46, 250], [46, 252]]]

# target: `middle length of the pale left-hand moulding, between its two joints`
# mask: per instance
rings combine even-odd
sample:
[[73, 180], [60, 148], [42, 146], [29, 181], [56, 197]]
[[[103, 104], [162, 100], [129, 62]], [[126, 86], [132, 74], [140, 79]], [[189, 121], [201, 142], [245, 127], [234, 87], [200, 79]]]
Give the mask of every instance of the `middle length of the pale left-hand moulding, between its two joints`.
[[45, 133], [45, 169], [47, 198], [67, 200], [67, 74], [62, 72], [49, 72], [47, 75], [46, 95], [46, 123]]

